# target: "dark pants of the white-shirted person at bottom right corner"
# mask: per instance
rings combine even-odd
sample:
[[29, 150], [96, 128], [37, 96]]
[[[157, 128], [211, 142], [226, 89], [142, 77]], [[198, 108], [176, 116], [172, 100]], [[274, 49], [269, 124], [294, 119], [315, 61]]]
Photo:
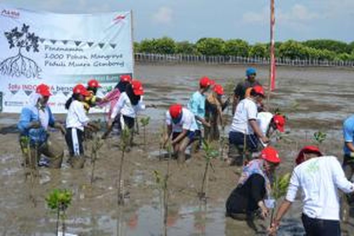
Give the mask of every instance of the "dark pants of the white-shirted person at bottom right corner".
[[340, 236], [339, 220], [322, 220], [308, 217], [302, 213], [302, 224], [307, 236]]

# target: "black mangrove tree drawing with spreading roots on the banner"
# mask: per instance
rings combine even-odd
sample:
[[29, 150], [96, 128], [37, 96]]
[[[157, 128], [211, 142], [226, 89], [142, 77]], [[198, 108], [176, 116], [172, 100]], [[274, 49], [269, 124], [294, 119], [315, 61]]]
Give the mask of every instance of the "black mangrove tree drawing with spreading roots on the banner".
[[25, 57], [21, 52], [24, 48], [27, 52], [31, 49], [33, 52], [39, 52], [38, 40], [39, 37], [34, 33], [28, 32], [29, 25], [22, 25], [22, 29], [18, 30], [17, 27], [11, 31], [5, 32], [5, 37], [11, 48], [18, 48], [16, 56], [9, 57], [0, 63], [0, 72], [3, 75], [9, 75], [11, 77], [19, 77], [21, 75], [27, 78], [37, 77], [41, 71], [37, 63], [32, 59]]

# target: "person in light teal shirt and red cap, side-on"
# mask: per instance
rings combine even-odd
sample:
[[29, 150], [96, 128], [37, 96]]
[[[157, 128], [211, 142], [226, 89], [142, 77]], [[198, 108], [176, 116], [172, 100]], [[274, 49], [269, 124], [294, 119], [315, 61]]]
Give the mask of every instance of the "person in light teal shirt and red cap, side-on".
[[[203, 127], [210, 127], [210, 123], [205, 120], [205, 93], [209, 90], [210, 86], [214, 81], [210, 80], [208, 77], [202, 77], [199, 80], [199, 90], [193, 93], [190, 97], [187, 108], [192, 111], [195, 116], [195, 120], [198, 125], [198, 131], [195, 133], [195, 138], [199, 139], [198, 146], [195, 148], [199, 149], [202, 141], [202, 130]], [[193, 150], [193, 151], [196, 151]]]

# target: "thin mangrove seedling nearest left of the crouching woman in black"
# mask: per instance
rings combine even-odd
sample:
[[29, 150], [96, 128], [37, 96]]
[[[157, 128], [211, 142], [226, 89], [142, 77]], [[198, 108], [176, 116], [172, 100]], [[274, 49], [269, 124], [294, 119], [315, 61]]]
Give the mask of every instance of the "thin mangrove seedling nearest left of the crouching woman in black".
[[204, 174], [203, 174], [203, 179], [201, 183], [201, 189], [198, 194], [200, 200], [206, 201], [206, 192], [207, 192], [207, 186], [208, 186], [208, 179], [209, 179], [209, 167], [213, 169], [213, 165], [211, 160], [215, 159], [218, 155], [219, 152], [209, 143], [206, 142], [205, 140], [203, 141], [202, 149], [204, 150], [204, 158], [205, 158], [205, 169], [204, 169]]

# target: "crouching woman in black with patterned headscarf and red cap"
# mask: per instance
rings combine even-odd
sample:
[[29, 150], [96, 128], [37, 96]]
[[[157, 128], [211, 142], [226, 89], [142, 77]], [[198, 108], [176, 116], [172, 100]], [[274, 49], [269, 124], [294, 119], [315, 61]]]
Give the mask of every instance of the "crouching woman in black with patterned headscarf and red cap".
[[247, 220], [256, 230], [253, 219], [257, 213], [265, 219], [268, 216], [268, 201], [272, 194], [272, 177], [278, 167], [280, 158], [278, 151], [268, 146], [261, 151], [259, 159], [250, 161], [243, 167], [237, 187], [226, 201], [226, 215], [238, 220]]

